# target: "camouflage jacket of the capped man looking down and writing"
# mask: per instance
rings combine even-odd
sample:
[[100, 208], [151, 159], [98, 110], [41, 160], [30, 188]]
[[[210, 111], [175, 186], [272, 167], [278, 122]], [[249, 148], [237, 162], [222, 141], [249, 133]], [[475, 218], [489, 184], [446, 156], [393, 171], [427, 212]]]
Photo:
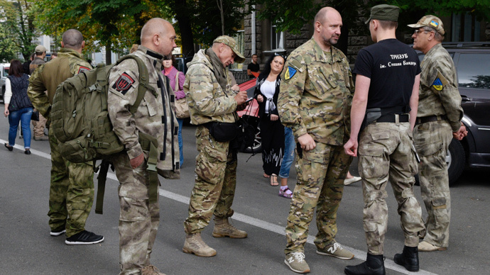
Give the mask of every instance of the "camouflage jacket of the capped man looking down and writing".
[[195, 125], [210, 121], [234, 123], [238, 115], [231, 79], [227, 73], [227, 87], [222, 89], [214, 77], [214, 68], [208, 58], [205, 50], [197, 52], [185, 74], [184, 91], [190, 120]]

